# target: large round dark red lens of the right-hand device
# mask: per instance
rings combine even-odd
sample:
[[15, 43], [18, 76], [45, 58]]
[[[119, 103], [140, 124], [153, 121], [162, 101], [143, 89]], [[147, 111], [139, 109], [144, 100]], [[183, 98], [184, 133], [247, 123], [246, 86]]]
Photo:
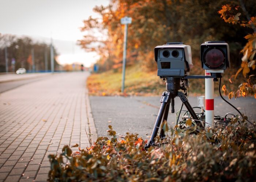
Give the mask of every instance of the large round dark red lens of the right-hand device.
[[219, 48], [210, 48], [204, 53], [204, 64], [212, 69], [218, 69], [225, 63], [225, 55]]

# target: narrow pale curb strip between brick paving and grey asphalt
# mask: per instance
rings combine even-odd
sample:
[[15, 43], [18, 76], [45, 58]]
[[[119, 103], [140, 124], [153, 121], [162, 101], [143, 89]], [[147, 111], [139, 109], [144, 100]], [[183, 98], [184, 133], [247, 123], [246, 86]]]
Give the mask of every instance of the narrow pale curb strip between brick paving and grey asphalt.
[[93, 113], [91, 111], [91, 104], [90, 104], [90, 100], [89, 100], [89, 91], [87, 88], [85, 91], [85, 98], [86, 98], [86, 108], [87, 108], [86, 111], [87, 111], [88, 124], [89, 124], [89, 129], [90, 129], [90, 134], [91, 134], [91, 143], [93, 145], [94, 142], [97, 141], [98, 134], [97, 134], [97, 130], [96, 130], [94, 119], [93, 119]]

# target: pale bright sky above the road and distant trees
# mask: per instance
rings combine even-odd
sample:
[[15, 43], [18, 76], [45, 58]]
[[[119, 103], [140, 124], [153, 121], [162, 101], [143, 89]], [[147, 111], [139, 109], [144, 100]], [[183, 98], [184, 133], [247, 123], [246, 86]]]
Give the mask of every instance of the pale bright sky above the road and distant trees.
[[99, 57], [76, 45], [84, 34], [79, 27], [89, 16], [98, 16], [93, 12], [96, 5], [108, 4], [109, 0], [0, 0], [0, 33], [45, 43], [52, 36], [60, 64], [78, 62], [89, 67]]

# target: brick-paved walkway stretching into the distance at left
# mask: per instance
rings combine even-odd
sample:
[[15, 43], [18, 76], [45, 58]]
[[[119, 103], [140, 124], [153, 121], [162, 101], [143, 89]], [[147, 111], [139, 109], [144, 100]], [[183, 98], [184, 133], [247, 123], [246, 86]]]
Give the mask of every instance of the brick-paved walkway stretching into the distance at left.
[[56, 74], [0, 94], [0, 181], [46, 181], [49, 154], [89, 146], [86, 131], [96, 139], [88, 75]]

